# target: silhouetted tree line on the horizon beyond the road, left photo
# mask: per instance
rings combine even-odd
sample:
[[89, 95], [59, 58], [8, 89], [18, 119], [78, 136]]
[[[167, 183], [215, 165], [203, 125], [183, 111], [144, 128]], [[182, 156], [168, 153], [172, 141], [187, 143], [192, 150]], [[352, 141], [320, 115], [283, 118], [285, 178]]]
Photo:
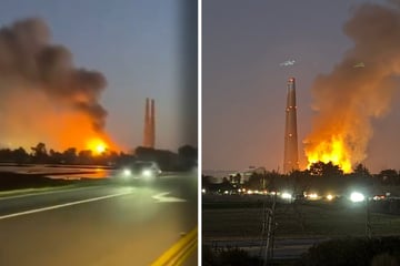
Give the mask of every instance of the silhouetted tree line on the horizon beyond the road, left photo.
[[167, 150], [154, 150], [137, 147], [134, 154], [117, 153], [104, 151], [101, 154], [93, 154], [90, 150], [78, 151], [69, 147], [63, 152], [48, 150], [44, 143], [40, 142], [28, 152], [23, 147], [16, 150], [1, 149], [0, 162], [17, 164], [78, 164], [78, 165], [109, 165], [119, 166], [136, 160], [156, 161], [162, 170], [188, 171], [197, 166], [198, 150], [190, 145], [179, 147], [178, 153]]

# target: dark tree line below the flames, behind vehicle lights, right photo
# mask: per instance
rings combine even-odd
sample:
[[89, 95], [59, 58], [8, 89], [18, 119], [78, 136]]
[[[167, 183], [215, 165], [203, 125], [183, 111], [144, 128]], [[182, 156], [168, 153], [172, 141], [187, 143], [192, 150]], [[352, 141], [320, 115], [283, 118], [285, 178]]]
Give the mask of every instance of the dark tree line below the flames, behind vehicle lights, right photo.
[[[304, 171], [292, 171], [289, 174], [278, 172], [253, 173], [243, 182], [242, 176], [224, 177], [223, 182], [216, 185], [209, 182], [211, 176], [202, 176], [202, 187], [210, 191], [224, 190], [231, 184], [240, 183], [240, 187], [249, 190], [290, 190], [301, 194], [303, 191], [316, 191], [319, 193], [343, 192], [352, 187], [364, 188], [366, 192], [376, 186], [398, 186], [400, 185], [400, 173], [396, 170], [382, 170], [379, 174], [372, 175], [369, 170], [358, 164], [353, 172], [344, 174], [343, 171], [332, 163], [318, 162]], [[239, 182], [238, 182], [239, 181]]]

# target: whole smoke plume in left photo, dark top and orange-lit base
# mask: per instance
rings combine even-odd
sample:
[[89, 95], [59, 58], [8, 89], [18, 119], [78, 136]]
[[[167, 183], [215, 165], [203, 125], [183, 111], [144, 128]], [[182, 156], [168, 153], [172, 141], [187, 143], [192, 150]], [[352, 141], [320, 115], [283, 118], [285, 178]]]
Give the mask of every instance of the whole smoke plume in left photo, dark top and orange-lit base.
[[51, 43], [43, 20], [0, 29], [0, 144], [82, 147], [83, 136], [102, 134], [106, 84], [101, 73], [77, 69], [71, 52]]

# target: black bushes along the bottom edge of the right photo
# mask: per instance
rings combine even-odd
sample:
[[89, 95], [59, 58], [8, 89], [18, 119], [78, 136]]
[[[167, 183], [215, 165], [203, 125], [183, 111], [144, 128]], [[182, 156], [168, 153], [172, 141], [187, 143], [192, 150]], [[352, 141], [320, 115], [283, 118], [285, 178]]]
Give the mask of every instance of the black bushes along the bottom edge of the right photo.
[[[207, 266], [262, 265], [261, 258], [246, 250], [227, 247], [219, 250], [202, 246], [202, 263]], [[400, 263], [400, 238], [340, 238], [312, 246], [298, 259], [272, 260], [268, 265], [291, 266], [397, 266]]]

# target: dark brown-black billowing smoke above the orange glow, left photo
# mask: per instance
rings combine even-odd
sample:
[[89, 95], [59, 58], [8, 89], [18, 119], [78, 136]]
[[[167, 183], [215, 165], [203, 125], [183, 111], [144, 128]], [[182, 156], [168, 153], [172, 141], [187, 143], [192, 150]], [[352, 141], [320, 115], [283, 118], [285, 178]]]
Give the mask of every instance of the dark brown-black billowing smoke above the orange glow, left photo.
[[106, 86], [103, 74], [76, 68], [72, 53], [51, 42], [43, 20], [24, 19], [0, 30], [0, 96], [22, 89], [31, 95], [39, 91], [52, 105], [87, 115], [92, 129], [101, 132], [107, 111], [99, 99]]

